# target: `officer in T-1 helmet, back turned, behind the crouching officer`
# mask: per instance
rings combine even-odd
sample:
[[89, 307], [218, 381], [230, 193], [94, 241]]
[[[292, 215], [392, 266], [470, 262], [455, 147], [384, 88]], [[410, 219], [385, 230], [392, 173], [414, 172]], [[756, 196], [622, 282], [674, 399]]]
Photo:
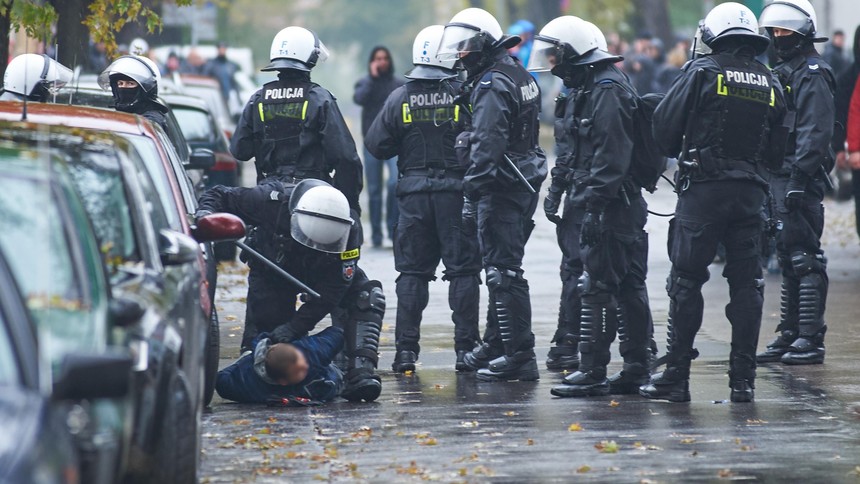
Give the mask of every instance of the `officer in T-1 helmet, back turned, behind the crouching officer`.
[[[361, 160], [335, 97], [311, 81], [311, 69], [328, 58], [312, 31], [287, 27], [272, 40], [268, 66], [278, 79], [254, 93], [230, 139], [237, 160], [255, 159], [257, 181], [315, 178], [342, 191], [360, 213]], [[334, 176], [331, 172], [334, 171]]]

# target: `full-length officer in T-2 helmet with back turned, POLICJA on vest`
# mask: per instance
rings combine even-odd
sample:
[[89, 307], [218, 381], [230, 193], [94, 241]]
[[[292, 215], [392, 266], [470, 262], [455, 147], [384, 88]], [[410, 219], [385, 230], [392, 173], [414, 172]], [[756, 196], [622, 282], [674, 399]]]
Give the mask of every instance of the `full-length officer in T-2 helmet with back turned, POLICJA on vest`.
[[[765, 163], [782, 157], [785, 107], [778, 81], [755, 57], [767, 49], [747, 7], [714, 7], [699, 27], [712, 53], [689, 62], [654, 113], [660, 150], [681, 160], [670, 224], [666, 369], [640, 388], [647, 398], [690, 400], [690, 362], [702, 324], [702, 285], [717, 244], [726, 248], [726, 317], [732, 325], [729, 386], [733, 402], [754, 397], [755, 350], [764, 279], [759, 263]], [[774, 149], [776, 148], [776, 149]]]

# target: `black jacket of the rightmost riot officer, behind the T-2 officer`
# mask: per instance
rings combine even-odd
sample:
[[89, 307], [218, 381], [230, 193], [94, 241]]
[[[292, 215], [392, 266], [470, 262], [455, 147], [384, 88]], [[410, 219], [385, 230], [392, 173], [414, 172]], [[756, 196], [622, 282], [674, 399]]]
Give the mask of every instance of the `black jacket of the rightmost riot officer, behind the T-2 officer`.
[[[794, 112], [794, 132], [781, 174], [793, 169], [821, 178], [833, 168], [835, 79], [830, 66], [810, 47], [805, 53], [777, 64], [774, 72], [786, 90], [786, 102]], [[825, 173], [821, 169], [824, 168]]]

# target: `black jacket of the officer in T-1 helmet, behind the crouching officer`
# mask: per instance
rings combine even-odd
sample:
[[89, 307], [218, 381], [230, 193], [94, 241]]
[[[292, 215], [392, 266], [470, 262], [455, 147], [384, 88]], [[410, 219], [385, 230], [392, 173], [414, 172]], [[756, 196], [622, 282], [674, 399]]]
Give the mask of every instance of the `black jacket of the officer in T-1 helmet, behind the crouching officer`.
[[[355, 149], [337, 100], [326, 89], [310, 82], [310, 75], [296, 70], [282, 71], [280, 84], [266, 85], [251, 97], [236, 132], [230, 140], [230, 151], [237, 160], [247, 161], [255, 158], [258, 171], [265, 176], [278, 174], [285, 169], [291, 173], [281, 173], [299, 178], [318, 178], [329, 182], [343, 192], [349, 206], [360, 212], [358, 195], [363, 184], [361, 159]], [[266, 139], [265, 128], [258, 121], [265, 91], [270, 87], [287, 85], [303, 86], [308, 89], [304, 94], [307, 107], [300, 121], [298, 133], [293, 137], [272, 141]], [[295, 161], [287, 158], [295, 156]], [[334, 171], [334, 177], [329, 174]]]

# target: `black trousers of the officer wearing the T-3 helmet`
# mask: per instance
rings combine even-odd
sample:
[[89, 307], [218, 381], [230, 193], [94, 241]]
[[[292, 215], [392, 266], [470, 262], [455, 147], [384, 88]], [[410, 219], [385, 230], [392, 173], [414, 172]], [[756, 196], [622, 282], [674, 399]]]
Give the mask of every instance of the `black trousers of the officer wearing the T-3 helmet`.
[[454, 322], [454, 347], [471, 351], [480, 341], [478, 331], [481, 257], [476, 234], [462, 227], [461, 192], [411, 193], [398, 197], [400, 216], [394, 231], [394, 268], [397, 278], [398, 351], [418, 353], [421, 319], [430, 297], [429, 281], [439, 260], [445, 265], [448, 305]]

